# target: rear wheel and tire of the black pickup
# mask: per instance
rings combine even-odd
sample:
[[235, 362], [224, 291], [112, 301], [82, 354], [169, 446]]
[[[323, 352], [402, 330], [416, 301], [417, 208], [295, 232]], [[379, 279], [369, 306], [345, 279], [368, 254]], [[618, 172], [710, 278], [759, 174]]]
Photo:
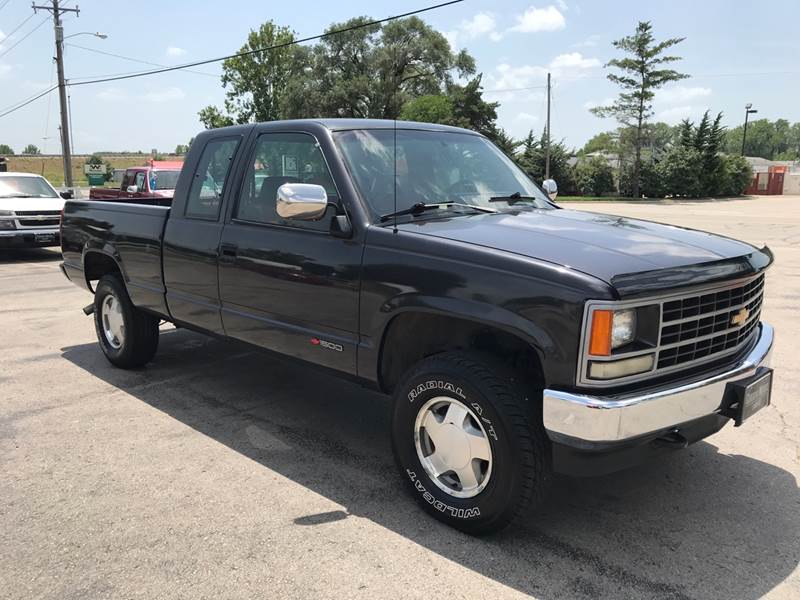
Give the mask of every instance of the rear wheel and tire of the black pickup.
[[111, 364], [134, 369], [150, 362], [158, 350], [158, 323], [157, 317], [133, 305], [118, 277], [100, 279], [94, 294], [94, 327]]

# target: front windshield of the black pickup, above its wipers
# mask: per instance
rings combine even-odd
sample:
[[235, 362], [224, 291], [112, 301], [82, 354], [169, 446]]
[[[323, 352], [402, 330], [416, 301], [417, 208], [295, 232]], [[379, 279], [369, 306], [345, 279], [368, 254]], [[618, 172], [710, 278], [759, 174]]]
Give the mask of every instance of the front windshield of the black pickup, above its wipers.
[[[409, 129], [357, 129], [338, 132], [335, 140], [362, 197], [378, 215], [408, 209], [417, 203], [456, 202], [492, 209], [503, 209], [510, 204], [515, 208], [522, 204], [552, 208], [525, 173], [481, 136]], [[392, 184], [395, 156], [396, 208]], [[511, 194], [533, 199], [490, 202], [491, 198]]]

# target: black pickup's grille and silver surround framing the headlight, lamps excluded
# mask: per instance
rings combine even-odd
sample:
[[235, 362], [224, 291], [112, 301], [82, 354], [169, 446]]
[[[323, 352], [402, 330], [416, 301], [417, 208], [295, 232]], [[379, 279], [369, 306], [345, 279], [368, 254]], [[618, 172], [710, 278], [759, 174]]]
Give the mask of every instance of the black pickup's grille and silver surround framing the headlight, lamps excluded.
[[[764, 274], [726, 284], [701, 286], [691, 291], [635, 301], [590, 300], [584, 309], [577, 381], [586, 387], [608, 387], [689, 369], [735, 354], [750, 343], [758, 331], [764, 298]], [[614, 352], [610, 357], [590, 357], [588, 328], [592, 311], [619, 310], [656, 305], [659, 308], [658, 343], [652, 348]], [[741, 325], [731, 326], [734, 315], [746, 309]], [[686, 313], [690, 314], [686, 314]], [[655, 354], [653, 368], [613, 380], [588, 377], [589, 361], [617, 360]]]

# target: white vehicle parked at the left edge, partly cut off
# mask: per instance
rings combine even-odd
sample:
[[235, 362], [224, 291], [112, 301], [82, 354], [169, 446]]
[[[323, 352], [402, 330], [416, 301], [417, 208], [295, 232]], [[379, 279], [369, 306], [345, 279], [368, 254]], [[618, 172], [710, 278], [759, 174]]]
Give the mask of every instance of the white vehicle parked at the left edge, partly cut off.
[[58, 246], [65, 197], [41, 175], [0, 173], [0, 248]]

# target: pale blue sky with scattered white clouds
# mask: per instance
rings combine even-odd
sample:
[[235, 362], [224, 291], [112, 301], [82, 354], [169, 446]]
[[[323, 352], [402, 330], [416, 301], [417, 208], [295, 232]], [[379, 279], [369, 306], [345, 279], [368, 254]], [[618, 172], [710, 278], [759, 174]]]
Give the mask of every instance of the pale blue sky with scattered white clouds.
[[[436, 2], [77, 3], [80, 15], [65, 17], [65, 36], [108, 37], [81, 34], [66, 40], [66, 75], [75, 81], [149, 68], [86, 48], [176, 65], [235, 52], [248, 31], [268, 19], [305, 37], [353, 16], [383, 18]], [[0, 0], [0, 113], [55, 82], [52, 22], [45, 22], [46, 13], [28, 19], [31, 14], [28, 0]], [[683, 57], [675, 67], [691, 78], [657, 92], [655, 119], [674, 124], [699, 119], [705, 110], [722, 111], [724, 123], [733, 127], [741, 124], [750, 102], [759, 118], [800, 121], [798, 0], [773, 0], [768, 8], [745, 0], [466, 0], [422, 17], [475, 57], [485, 97], [500, 102], [498, 123], [515, 137], [544, 128], [547, 72], [553, 81], [555, 139], [580, 148], [594, 134], [613, 129], [612, 120], [595, 117], [589, 108], [615, 96], [604, 64], [619, 56], [613, 40], [632, 33], [640, 20], [652, 22], [657, 39], [686, 38], [674, 48]], [[224, 98], [219, 63], [193, 71], [70, 88], [75, 152], [166, 152], [187, 143], [202, 129], [197, 112], [208, 104], [221, 106]], [[0, 118], [0, 143], [17, 152], [32, 143], [57, 153], [58, 122], [53, 92]]]

